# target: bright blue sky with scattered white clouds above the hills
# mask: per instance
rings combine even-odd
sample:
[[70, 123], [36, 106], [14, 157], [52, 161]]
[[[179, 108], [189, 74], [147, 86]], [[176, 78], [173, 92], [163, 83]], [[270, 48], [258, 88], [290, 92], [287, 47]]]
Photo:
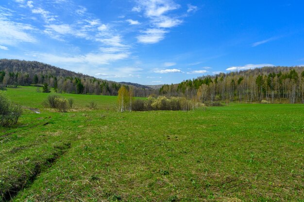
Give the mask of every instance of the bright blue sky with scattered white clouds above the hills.
[[141, 84], [304, 64], [303, 0], [1, 0], [0, 58]]

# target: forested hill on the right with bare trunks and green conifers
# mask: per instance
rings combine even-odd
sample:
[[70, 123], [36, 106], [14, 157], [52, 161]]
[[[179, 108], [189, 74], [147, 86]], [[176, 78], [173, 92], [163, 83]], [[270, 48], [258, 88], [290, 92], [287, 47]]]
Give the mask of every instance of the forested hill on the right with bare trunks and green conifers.
[[263, 67], [163, 85], [160, 94], [201, 102], [304, 103], [304, 67]]

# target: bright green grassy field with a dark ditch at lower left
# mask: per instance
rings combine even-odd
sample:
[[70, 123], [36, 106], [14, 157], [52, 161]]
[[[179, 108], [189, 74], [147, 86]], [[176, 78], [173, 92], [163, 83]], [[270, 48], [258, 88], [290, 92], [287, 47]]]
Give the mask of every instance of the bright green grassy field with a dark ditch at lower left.
[[117, 113], [116, 97], [63, 94], [59, 113], [35, 87], [7, 95], [24, 113], [0, 127], [0, 201], [304, 202], [303, 105]]

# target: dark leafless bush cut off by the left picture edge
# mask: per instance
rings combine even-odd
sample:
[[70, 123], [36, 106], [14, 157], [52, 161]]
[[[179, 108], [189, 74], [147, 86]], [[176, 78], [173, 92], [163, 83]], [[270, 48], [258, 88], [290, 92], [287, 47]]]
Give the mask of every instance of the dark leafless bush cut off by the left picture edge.
[[0, 125], [11, 126], [17, 124], [21, 113], [21, 107], [10, 103], [5, 94], [0, 92]]

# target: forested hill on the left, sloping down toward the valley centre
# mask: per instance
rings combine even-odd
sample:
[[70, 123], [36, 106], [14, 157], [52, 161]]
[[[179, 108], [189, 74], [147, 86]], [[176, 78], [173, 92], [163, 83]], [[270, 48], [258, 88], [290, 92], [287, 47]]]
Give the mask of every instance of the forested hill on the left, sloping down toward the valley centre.
[[42, 62], [0, 59], [0, 87], [43, 84], [55, 88], [57, 93], [117, 95], [122, 85], [133, 88], [135, 96], [158, 93], [143, 85], [102, 80]]

